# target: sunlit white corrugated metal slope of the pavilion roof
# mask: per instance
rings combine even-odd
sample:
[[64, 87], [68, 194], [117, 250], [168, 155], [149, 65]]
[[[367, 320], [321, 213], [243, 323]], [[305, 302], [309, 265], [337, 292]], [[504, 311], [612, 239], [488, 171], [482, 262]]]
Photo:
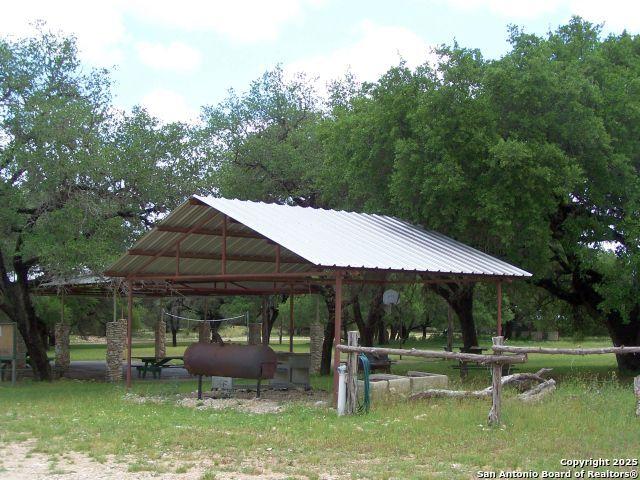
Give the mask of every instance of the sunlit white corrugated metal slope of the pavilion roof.
[[445, 235], [390, 216], [194, 198], [316, 266], [531, 276]]

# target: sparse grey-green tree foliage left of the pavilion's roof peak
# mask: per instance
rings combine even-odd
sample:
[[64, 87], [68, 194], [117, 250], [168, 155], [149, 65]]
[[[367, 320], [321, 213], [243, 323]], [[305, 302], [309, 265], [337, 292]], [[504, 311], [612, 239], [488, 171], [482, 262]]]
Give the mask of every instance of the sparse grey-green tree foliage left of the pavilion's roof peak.
[[[0, 40], [0, 250], [32, 273], [103, 268], [206, 169], [191, 127], [116, 112], [75, 41]], [[7, 271], [12, 266], [6, 267]]]

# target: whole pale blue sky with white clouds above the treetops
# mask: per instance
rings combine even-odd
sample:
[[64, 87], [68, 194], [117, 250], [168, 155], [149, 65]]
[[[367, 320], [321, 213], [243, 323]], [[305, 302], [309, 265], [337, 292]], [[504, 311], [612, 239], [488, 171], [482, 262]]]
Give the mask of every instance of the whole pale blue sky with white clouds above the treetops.
[[[6, 2], [6, 3], [4, 3]], [[544, 34], [580, 15], [605, 33], [640, 30], [637, 0], [21, 0], [3, 1], [0, 35], [33, 22], [73, 34], [83, 63], [111, 69], [114, 103], [165, 122], [194, 121], [203, 105], [280, 64], [319, 85], [348, 70], [375, 80], [400, 58], [428, 61], [454, 40], [488, 58], [508, 50], [507, 27]]]

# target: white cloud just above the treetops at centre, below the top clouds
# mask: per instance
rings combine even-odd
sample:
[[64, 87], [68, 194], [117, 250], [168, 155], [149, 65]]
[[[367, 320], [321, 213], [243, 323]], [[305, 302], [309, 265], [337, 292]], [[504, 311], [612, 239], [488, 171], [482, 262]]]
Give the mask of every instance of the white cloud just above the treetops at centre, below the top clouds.
[[357, 39], [350, 45], [290, 63], [286, 71], [317, 75], [323, 84], [343, 77], [347, 71], [358, 80], [373, 81], [401, 59], [416, 67], [435, 58], [432, 47], [404, 27], [382, 26], [366, 20], [356, 32]]

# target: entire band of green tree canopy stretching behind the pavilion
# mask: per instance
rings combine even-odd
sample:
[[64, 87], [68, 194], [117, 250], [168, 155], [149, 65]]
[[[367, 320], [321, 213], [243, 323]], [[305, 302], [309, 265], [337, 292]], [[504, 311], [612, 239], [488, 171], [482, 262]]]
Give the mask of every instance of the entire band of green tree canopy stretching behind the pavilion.
[[[574, 18], [508, 39], [500, 58], [454, 43], [375, 82], [347, 75], [328, 98], [277, 67], [198, 125], [115, 111], [108, 72], [84, 69], [73, 39], [1, 40], [0, 308], [37, 355], [40, 278], [100, 269], [205, 192], [405, 218], [532, 271], [507, 288], [508, 318], [569, 316], [575, 331], [640, 344], [640, 37]], [[407, 289], [403, 308], [429, 318], [444, 299], [472, 345], [491, 288]], [[389, 325], [402, 336], [380, 289], [348, 296], [363, 338], [385, 340]], [[618, 361], [640, 369], [638, 356]]]

